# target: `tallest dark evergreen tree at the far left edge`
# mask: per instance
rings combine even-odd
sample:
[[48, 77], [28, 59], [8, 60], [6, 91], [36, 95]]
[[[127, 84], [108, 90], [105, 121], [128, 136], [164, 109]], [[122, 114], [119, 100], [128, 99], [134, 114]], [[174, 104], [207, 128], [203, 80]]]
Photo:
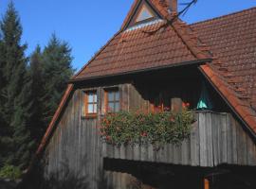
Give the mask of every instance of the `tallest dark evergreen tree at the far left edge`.
[[3, 40], [1, 48], [3, 80], [1, 117], [4, 120], [5, 137], [1, 150], [4, 163], [11, 163], [24, 168], [29, 160], [31, 139], [27, 129], [29, 122], [30, 82], [27, 77], [27, 45], [21, 44], [22, 26], [17, 11], [12, 3], [0, 25]]

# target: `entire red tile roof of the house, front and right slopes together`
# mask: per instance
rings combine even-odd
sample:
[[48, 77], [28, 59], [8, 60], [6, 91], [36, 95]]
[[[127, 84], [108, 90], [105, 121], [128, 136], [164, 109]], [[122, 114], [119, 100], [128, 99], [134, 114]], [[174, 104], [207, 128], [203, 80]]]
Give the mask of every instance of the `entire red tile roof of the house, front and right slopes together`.
[[[200, 70], [256, 132], [253, 117], [256, 109], [256, 8], [188, 26], [179, 19], [173, 20], [166, 1], [149, 2], [163, 20], [134, 30], [122, 30], [133, 16], [137, 0], [121, 30], [72, 81], [212, 58], [211, 72], [204, 66]], [[212, 73], [213, 77], [208, 76]], [[216, 83], [217, 80], [222, 82]], [[241, 102], [243, 106], [238, 106]]]

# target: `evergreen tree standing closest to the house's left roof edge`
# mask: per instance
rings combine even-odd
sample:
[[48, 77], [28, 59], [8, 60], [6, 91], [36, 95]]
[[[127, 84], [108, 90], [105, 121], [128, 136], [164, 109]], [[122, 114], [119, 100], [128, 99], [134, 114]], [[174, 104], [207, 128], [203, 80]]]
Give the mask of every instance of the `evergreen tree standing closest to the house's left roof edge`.
[[58, 108], [67, 81], [74, 73], [71, 66], [71, 48], [53, 34], [44, 49], [43, 61], [46, 92], [44, 116], [47, 125]]

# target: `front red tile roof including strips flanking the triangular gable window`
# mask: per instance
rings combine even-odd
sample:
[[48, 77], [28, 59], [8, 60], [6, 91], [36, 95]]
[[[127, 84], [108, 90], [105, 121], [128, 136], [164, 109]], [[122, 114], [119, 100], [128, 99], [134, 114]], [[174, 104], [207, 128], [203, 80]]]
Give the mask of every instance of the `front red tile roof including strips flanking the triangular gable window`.
[[[137, 2], [133, 5], [124, 24], [133, 15]], [[198, 58], [199, 60], [210, 59], [204, 47], [197, 43], [189, 26], [177, 19], [170, 23], [172, 17], [168, 17], [170, 14], [165, 1], [151, 0], [150, 2], [165, 19], [150, 26], [120, 30], [73, 80], [125, 74], [198, 60]], [[199, 57], [195, 56], [197, 54], [200, 54]]]

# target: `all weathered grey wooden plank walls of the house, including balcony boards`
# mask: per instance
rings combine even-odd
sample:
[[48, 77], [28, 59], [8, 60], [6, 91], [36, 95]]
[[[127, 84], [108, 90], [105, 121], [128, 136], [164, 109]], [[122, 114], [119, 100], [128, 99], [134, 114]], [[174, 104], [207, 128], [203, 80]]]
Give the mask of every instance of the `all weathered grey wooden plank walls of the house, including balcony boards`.
[[[123, 110], [148, 109], [149, 101], [133, 84], [117, 85]], [[83, 114], [84, 90], [97, 89], [98, 118], [87, 119]], [[77, 177], [88, 180], [89, 188], [124, 188], [133, 180], [127, 173], [106, 171], [103, 158], [126, 159], [192, 166], [215, 166], [222, 163], [256, 165], [255, 142], [229, 113], [199, 112], [192, 127], [191, 138], [181, 146], [168, 145], [155, 151], [153, 146], [106, 146], [101, 142], [97, 127], [103, 107], [103, 88], [76, 90], [69, 100], [48, 146], [46, 147], [46, 175], [67, 167]]]

